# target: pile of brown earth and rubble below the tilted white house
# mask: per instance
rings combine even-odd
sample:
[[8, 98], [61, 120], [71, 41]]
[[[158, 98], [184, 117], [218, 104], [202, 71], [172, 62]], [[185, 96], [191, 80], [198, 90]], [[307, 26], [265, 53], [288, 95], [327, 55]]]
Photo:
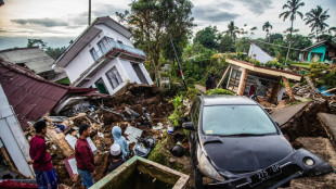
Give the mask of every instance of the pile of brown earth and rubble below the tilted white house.
[[[88, 141], [94, 153], [98, 173], [94, 179], [100, 180], [106, 175], [111, 163], [108, 156], [109, 147], [114, 142], [113, 126], [121, 127], [129, 141], [129, 149], [132, 150], [139, 138], [153, 136], [159, 139], [167, 127], [166, 118], [172, 110], [173, 105], [157, 87], [130, 84], [113, 97], [81, 100], [67, 105], [57, 115], [46, 115], [48, 151], [60, 182], [79, 186], [79, 180], [74, 182], [72, 178], [76, 172], [72, 160], [80, 125], [90, 125], [91, 136]], [[68, 117], [69, 115], [72, 116]], [[34, 127], [30, 126], [26, 130], [26, 137], [30, 140], [34, 135]]]

